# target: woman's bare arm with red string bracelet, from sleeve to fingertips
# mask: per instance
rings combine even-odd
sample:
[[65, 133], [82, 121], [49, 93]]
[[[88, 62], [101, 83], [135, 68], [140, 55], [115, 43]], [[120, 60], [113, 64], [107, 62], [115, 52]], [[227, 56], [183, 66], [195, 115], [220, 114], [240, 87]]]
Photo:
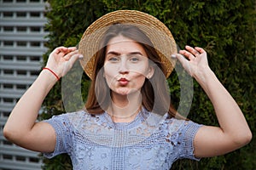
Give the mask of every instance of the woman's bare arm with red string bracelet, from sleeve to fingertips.
[[[46, 67], [63, 77], [79, 58], [76, 48], [55, 48]], [[55, 149], [55, 130], [46, 122], [36, 122], [38, 111], [57, 82], [53, 73], [43, 70], [32, 86], [20, 98], [3, 128], [3, 135], [28, 150], [51, 152]]]

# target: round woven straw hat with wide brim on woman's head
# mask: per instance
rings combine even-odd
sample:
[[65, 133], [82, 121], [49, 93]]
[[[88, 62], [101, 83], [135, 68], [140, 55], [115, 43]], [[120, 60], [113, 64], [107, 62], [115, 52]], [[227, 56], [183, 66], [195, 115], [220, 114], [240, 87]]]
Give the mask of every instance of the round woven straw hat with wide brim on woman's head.
[[169, 77], [176, 62], [171, 55], [177, 53], [177, 44], [171, 31], [150, 14], [136, 10], [118, 10], [105, 14], [93, 22], [84, 31], [79, 42], [79, 53], [84, 55], [84, 58], [80, 59], [80, 64], [90, 79], [95, 65], [95, 54], [100, 49], [99, 42], [109, 26], [116, 23], [137, 26], [149, 37], [164, 64], [164, 74]]

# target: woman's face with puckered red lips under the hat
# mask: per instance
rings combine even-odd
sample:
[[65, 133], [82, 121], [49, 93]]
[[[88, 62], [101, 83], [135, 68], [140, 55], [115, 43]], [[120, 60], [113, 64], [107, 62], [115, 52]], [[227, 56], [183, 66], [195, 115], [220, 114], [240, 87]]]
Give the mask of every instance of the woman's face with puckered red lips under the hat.
[[113, 93], [127, 95], [140, 91], [145, 77], [151, 77], [153, 73], [153, 68], [148, 65], [148, 56], [139, 43], [123, 36], [110, 39], [104, 77]]

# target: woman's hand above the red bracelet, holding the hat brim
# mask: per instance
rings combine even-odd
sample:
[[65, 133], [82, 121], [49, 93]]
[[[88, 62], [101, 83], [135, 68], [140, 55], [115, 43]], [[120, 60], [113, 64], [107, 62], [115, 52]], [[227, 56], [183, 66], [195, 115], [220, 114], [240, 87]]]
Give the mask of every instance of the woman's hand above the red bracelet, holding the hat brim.
[[79, 50], [75, 47], [58, 47], [49, 54], [45, 67], [54, 71], [58, 77], [64, 77], [72, 68], [74, 62], [82, 57], [83, 55], [79, 54]]

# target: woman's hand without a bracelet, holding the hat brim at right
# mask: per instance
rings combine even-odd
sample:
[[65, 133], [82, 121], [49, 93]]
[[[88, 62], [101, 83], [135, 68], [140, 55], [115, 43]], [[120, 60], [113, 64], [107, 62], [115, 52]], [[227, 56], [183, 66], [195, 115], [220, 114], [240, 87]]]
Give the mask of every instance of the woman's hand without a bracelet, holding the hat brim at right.
[[203, 48], [186, 46], [176, 54], [177, 59], [191, 77], [199, 78], [209, 69], [207, 52]]

